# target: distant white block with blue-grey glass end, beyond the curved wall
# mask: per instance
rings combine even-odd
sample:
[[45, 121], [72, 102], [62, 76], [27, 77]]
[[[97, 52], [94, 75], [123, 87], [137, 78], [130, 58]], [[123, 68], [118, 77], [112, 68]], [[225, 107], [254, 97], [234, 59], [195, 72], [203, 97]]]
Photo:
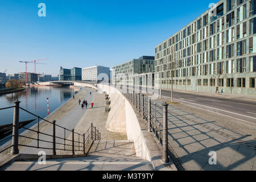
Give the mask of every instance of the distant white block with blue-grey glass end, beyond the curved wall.
[[[105, 76], [104, 76], [105, 75]], [[110, 69], [109, 67], [102, 67], [100, 65], [88, 68], [82, 68], [82, 81], [100, 82], [102, 76], [110, 81]]]

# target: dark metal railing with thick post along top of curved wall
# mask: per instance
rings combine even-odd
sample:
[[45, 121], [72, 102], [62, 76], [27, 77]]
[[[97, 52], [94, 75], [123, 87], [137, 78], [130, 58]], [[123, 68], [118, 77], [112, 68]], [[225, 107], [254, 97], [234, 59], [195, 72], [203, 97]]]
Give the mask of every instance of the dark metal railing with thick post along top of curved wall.
[[136, 93], [135, 91], [123, 93], [127, 100], [131, 101], [131, 104], [134, 105], [135, 110], [138, 113], [141, 113], [142, 119], [145, 119], [147, 122], [147, 131], [153, 132], [154, 136], [158, 139], [158, 142], [163, 146], [163, 157], [162, 162], [168, 163], [168, 125], [167, 125], [167, 108], [168, 104], [164, 102], [162, 104], [163, 110], [163, 124], [156, 117], [156, 103], [152, 104], [150, 97], [145, 97], [144, 94]]

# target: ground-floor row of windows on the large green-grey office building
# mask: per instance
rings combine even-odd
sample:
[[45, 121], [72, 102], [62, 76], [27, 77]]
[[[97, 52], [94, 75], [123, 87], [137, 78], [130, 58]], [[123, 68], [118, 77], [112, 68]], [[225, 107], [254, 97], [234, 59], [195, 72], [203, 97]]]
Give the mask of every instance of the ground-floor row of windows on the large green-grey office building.
[[[249, 78], [249, 88], [255, 88], [255, 80], [256, 80], [255, 77]], [[162, 84], [172, 84], [172, 80], [162, 80]], [[191, 80], [190, 79], [188, 79], [188, 80], [173, 80], [173, 84], [174, 85], [191, 85]], [[224, 78], [197, 79], [197, 84], [199, 86], [223, 87], [224, 86]], [[226, 78], [226, 87], [234, 87], [234, 78]], [[236, 87], [237, 88], [246, 88], [246, 78], [236, 78]]]

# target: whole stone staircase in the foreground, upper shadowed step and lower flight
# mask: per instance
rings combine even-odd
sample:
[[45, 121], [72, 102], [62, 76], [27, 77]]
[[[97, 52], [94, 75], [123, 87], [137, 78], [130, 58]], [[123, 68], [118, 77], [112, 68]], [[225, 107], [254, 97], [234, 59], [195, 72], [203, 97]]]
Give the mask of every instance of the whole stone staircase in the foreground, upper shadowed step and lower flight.
[[12, 162], [6, 171], [152, 171], [147, 160], [136, 156], [134, 143], [123, 140], [94, 141], [88, 155], [80, 158], [47, 159], [40, 165], [34, 161]]

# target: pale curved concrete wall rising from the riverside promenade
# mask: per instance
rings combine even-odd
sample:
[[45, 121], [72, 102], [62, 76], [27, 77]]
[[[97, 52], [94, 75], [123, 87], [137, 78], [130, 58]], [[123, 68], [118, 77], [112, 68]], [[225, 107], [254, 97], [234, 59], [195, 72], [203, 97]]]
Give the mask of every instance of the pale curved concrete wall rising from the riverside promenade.
[[123, 96], [119, 90], [109, 85], [98, 85], [100, 92], [109, 94], [111, 110], [107, 121], [106, 128], [110, 131], [125, 133], [128, 140], [133, 140], [136, 155], [139, 158], [151, 160], [150, 154], [142, 134], [141, 126], [133, 106]]

